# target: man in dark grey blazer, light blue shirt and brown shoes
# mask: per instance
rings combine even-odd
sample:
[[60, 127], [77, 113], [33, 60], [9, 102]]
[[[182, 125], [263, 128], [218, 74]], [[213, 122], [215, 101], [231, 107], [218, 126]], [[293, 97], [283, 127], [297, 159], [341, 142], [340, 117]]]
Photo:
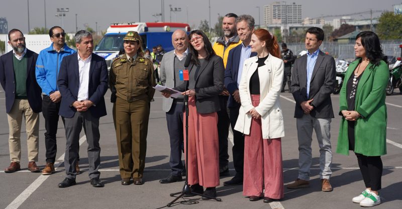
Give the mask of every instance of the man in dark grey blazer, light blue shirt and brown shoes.
[[295, 60], [293, 65], [291, 92], [296, 107], [299, 171], [297, 179], [287, 188], [309, 187], [312, 164], [312, 135], [316, 131], [320, 146], [320, 178], [322, 191], [332, 191], [329, 178], [332, 174], [332, 150], [330, 142], [332, 110], [331, 93], [335, 87], [335, 60], [320, 51], [324, 31], [312, 27], [306, 33], [306, 55]]

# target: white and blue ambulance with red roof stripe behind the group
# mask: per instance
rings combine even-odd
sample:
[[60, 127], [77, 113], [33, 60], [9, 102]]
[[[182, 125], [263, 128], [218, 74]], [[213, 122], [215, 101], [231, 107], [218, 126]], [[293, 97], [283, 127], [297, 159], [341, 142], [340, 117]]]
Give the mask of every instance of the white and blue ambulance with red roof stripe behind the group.
[[108, 69], [113, 60], [119, 56], [123, 49], [123, 38], [128, 31], [136, 31], [141, 36], [143, 49], [162, 45], [162, 48], [168, 52], [173, 50], [172, 33], [176, 29], [182, 29], [190, 32], [190, 26], [185, 23], [113, 23], [106, 31], [105, 36], [95, 46], [94, 53], [105, 58]]

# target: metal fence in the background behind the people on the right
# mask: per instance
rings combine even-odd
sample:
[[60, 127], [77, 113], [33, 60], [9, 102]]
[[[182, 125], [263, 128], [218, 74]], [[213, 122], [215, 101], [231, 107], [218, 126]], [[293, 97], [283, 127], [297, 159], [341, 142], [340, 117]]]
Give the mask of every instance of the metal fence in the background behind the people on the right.
[[[400, 48], [399, 44], [401, 42], [399, 41], [392, 41], [392, 42], [386, 42], [382, 43], [382, 52], [384, 55], [388, 56], [395, 56], [399, 57], [400, 56]], [[287, 44], [287, 48], [292, 50], [293, 54], [298, 55], [300, 52], [303, 50], [306, 50], [306, 47], [304, 44], [293, 44], [289, 43]], [[320, 46], [320, 49], [323, 52], [328, 52], [331, 56], [337, 58], [339, 56], [344, 57], [345, 59], [354, 59], [355, 58], [355, 53], [353, 49], [353, 44], [338, 44], [338, 43], [323, 43]]]

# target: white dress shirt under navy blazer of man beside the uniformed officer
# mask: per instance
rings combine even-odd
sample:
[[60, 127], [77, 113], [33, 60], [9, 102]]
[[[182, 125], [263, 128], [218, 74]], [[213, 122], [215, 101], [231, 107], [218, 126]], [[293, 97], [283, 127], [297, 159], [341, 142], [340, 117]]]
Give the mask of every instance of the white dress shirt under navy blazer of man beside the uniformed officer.
[[89, 87], [89, 68], [91, 65], [92, 54], [83, 60], [78, 54], [78, 72], [79, 72], [79, 86], [78, 86], [78, 101], [88, 100], [88, 87]]

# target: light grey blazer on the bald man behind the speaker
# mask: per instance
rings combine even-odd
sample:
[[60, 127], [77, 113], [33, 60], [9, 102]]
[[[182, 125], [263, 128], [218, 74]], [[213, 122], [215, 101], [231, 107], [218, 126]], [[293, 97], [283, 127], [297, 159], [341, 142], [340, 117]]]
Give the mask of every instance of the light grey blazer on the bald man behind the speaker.
[[[174, 88], [174, 50], [167, 52], [162, 57], [160, 62], [160, 82], [163, 86]], [[183, 98], [180, 96], [178, 98]], [[166, 113], [169, 112], [172, 107], [173, 98], [166, 98], [162, 96], [162, 110]]]

